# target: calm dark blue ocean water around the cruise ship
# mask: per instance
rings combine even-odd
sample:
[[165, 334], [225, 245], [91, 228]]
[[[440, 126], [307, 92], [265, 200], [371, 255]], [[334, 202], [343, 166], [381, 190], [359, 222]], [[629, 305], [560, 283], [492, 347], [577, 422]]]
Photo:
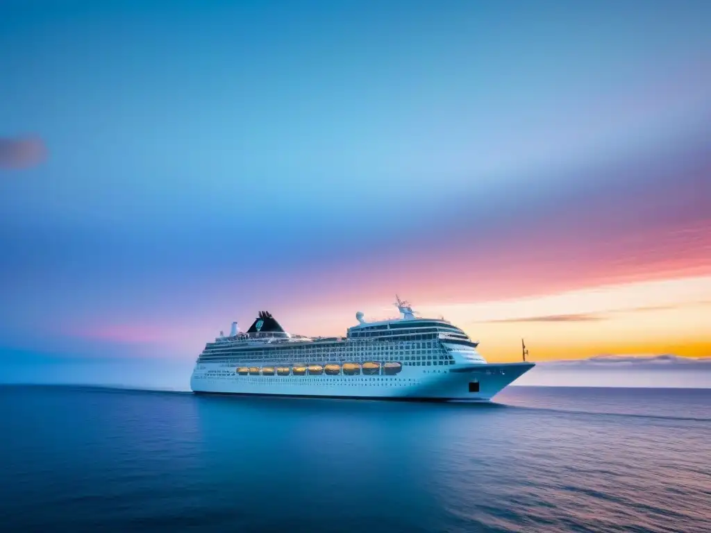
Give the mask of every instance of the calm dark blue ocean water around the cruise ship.
[[711, 390], [0, 387], [3, 532], [710, 532]]

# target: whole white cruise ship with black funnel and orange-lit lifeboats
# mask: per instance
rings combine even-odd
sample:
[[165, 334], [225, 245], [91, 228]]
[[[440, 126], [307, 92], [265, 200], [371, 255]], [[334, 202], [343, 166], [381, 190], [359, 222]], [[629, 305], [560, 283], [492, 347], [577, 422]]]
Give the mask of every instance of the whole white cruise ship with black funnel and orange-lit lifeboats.
[[286, 397], [488, 402], [534, 366], [488, 363], [478, 342], [444, 318], [419, 318], [397, 298], [399, 318], [365, 321], [345, 337], [311, 338], [284, 331], [260, 311], [246, 332], [207, 343], [191, 377], [196, 393]]

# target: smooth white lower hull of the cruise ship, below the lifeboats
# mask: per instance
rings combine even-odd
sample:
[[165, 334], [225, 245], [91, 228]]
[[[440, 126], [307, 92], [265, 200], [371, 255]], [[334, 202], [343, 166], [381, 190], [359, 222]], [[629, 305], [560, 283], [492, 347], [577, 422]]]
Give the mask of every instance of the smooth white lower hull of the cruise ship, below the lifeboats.
[[469, 400], [488, 402], [534, 366], [530, 362], [464, 363], [437, 367], [403, 367], [385, 375], [237, 375], [234, 365], [196, 365], [191, 389], [196, 393], [276, 397], [326, 397], [400, 400]]

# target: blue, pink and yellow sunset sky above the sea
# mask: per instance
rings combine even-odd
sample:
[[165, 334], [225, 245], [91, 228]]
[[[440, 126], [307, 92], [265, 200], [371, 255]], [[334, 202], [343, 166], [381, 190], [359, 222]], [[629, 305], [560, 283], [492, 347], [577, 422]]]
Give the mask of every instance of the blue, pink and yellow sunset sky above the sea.
[[182, 387], [232, 321], [338, 335], [397, 293], [490, 361], [674, 355], [697, 386], [710, 26], [705, 1], [1, 2], [4, 379]]

